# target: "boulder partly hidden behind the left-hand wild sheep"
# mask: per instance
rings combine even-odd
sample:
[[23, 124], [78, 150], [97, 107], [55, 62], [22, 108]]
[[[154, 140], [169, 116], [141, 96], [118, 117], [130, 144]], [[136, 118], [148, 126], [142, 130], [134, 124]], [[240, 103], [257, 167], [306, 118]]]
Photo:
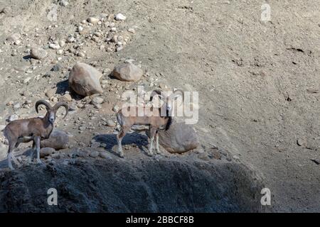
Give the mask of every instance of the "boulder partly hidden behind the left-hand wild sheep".
[[63, 131], [55, 130], [46, 140], [41, 140], [41, 148], [53, 148], [55, 150], [68, 148], [69, 136]]

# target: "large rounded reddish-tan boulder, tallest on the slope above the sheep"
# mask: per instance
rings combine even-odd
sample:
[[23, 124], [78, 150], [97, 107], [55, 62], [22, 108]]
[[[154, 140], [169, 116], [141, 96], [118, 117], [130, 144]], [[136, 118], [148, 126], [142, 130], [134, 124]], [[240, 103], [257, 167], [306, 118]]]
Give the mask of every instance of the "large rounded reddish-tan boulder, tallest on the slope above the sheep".
[[82, 96], [100, 94], [103, 92], [100, 78], [102, 73], [85, 63], [77, 63], [69, 74], [69, 86]]

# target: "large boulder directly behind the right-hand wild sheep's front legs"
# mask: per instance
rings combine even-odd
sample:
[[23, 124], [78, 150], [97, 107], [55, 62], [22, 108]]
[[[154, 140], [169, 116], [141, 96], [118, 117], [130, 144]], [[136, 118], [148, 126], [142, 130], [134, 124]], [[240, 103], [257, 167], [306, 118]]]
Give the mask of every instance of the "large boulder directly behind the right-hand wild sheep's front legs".
[[185, 153], [197, 148], [199, 142], [193, 126], [173, 121], [167, 131], [159, 131], [159, 144], [169, 153]]

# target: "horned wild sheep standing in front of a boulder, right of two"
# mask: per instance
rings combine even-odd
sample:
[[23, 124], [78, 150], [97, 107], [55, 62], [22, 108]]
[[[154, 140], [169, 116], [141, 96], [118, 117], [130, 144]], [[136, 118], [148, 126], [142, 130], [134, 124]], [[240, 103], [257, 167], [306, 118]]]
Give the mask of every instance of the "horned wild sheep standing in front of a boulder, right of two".
[[[180, 94], [176, 94], [176, 92], [181, 92]], [[124, 157], [122, 151], [122, 138], [124, 135], [130, 130], [133, 129], [134, 131], [139, 131], [137, 129], [132, 128], [132, 126], [149, 126], [150, 132], [150, 145], [149, 145], [149, 155], [153, 155], [153, 143], [154, 138], [156, 138], [156, 153], [161, 153], [159, 150], [159, 135], [158, 132], [160, 129], [168, 130], [171, 122], [172, 122], [172, 101], [177, 99], [178, 96], [183, 96], [183, 92], [181, 90], [176, 90], [170, 96], [166, 96], [164, 92], [161, 90], [154, 90], [151, 92], [150, 101], [152, 101], [154, 95], [158, 95], [159, 99], [164, 101], [164, 104], [159, 108], [146, 108], [146, 107], [137, 107], [137, 106], [129, 106], [127, 107], [126, 111], [129, 113], [133, 111], [133, 115], [128, 116], [128, 114], [124, 114], [124, 109], [120, 109], [117, 112], [117, 121], [121, 126], [121, 130], [117, 135], [117, 143], [118, 143], [118, 153], [120, 157]], [[143, 110], [142, 115], [138, 115], [139, 108]]]

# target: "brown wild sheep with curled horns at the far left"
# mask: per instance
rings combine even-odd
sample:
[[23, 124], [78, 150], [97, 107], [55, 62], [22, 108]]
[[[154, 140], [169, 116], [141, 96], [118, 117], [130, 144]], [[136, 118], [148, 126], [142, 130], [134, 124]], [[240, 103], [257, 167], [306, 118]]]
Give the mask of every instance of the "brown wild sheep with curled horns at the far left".
[[53, 123], [55, 121], [55, 115], [58, 109], [63, 106], [65, 108], [65, 118], [68, 114], [68, 104], [65, 102], [59, 102], [55, 106], [50, 106], [47, 101], [39, 100], [36, 102], [36, 111], [38, 113], [38, 106], [46, 106], [47, 113], [43, 118], [28, 118], [11, 121], [6, 128], [4, 128], [4, 136], [9, 141], [8, 150], [8, 165], [11, 170], [12, 167], [11, 158], [14, 160], [16, 165], [20, 165], [16, 157], [14, 157], [13, 150], [18, 148], [20, 143], [28, 143], [33, 141], [32, 152], [29, 157], [29, 162], [33, 159], [33, 152], [36, 148], [37, 151], [37, 162], [41, 163], [40, 160], [40, 141], [50, 137], [53, 131]]

